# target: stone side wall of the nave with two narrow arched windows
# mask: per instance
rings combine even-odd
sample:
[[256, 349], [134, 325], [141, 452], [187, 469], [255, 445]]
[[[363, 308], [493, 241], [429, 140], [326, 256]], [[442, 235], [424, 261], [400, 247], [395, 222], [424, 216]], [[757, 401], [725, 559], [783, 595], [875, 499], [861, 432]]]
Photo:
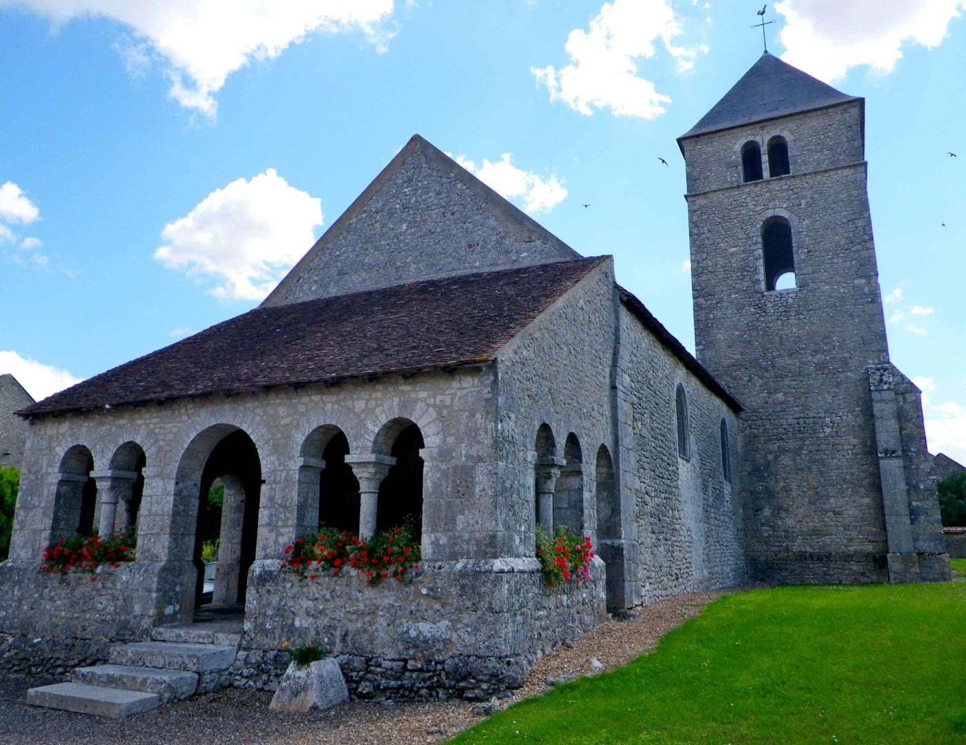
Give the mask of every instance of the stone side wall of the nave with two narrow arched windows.
[[[737, 416], [669, 355], [628, 308], [620, 306], [618, 312], [620, 478], [635, 505], [639, 602], [737, 585], [746, 576]], [[690, 459], [677, 451], [678, 384], [688, 401]], [[723, 471], [722, 419], [730, 481]]]

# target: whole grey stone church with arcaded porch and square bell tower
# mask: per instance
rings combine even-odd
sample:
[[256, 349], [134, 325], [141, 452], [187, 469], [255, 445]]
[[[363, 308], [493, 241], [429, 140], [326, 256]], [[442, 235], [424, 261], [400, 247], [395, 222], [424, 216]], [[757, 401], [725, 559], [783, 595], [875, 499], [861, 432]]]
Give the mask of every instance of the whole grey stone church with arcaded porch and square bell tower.
[[[766, 52], [679, 138], [696, 358], [611, 256], [412, 137], [259, 307], [20, 412], [0, 663], [220, 640], [199, 690], [271, 687], [288, 642], [326, 646], [359, 696], [478, 697], [608, 610], [949, 579], [920, 391], [889, 360], [864, 115]], [[216, 481], [214, 605], [239, 609], [220, 637], [198, 620]], [[280, 568], [320, 524], [406, 516], [412, 583]], [[545, 586], [537, 525], [590, 536], [589, 583]], [[136, 560], [38, 572], [96, 528], [136, 530]]]

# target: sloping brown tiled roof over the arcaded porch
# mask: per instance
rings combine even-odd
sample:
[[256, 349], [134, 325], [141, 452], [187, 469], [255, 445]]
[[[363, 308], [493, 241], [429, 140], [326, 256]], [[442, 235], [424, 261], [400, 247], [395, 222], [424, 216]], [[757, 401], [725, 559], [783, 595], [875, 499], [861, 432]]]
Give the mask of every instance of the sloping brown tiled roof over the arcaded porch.
[[488, 361], [606, 257], [258, 307], [23, 409], [43, 415]]

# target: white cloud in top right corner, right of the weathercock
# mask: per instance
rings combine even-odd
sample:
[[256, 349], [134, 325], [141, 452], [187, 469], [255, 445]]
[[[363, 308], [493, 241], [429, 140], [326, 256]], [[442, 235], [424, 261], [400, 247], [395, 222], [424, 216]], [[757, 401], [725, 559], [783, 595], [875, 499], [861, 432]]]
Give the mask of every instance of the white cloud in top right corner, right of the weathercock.
[[966, 0], [783, 0], [781, 59], [829, 82], [859, 65], [892, 72], [903, 44], [938, 46], [964, 8]]

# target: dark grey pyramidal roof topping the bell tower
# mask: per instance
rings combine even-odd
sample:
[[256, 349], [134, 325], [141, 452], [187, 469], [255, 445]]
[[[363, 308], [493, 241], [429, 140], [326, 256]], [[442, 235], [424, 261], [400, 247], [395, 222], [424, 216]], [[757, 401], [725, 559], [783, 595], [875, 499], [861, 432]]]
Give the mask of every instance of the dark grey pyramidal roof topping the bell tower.
[[678, 137], [678, 142], [698, 134], [800, 114], [849, 100], [862, 99], [837, 91], [766, 51], [722, 100]]

